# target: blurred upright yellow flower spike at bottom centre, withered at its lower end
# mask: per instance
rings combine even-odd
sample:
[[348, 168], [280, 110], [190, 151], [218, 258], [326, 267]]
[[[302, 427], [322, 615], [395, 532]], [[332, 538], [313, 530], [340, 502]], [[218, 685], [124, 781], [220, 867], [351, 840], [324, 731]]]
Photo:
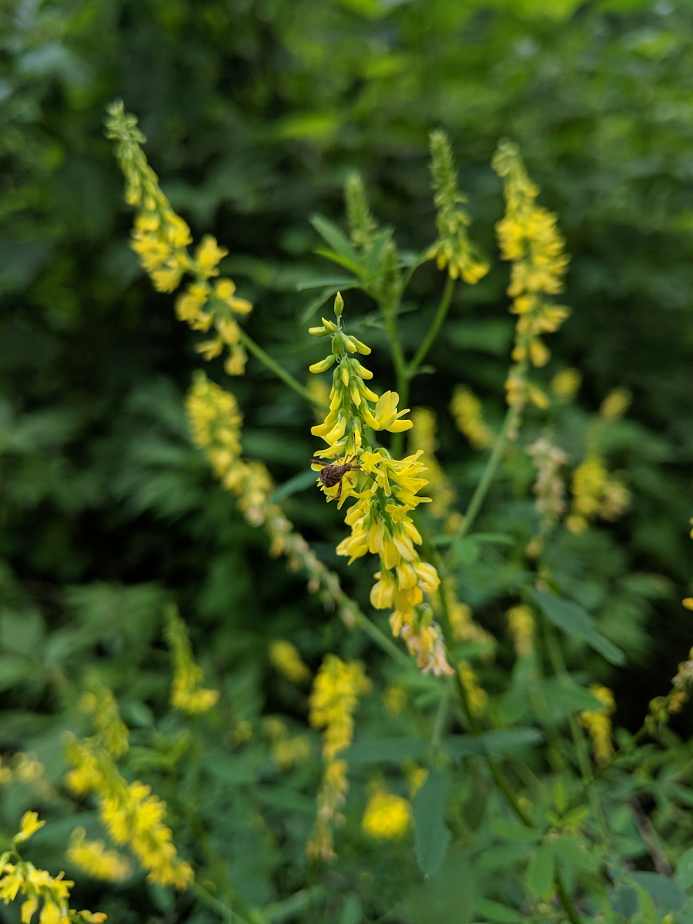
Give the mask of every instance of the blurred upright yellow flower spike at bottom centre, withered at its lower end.
[[333, 859], [333, 827], [344, 818], [340, 808], [349, 788], [346, 760], [337, 757], [348, 748], [354, 736], [354, 712], [359, 698], [371, 689], [371, 682], [358, 662], [345, 663], [328, 654], [310, 692], [310, 724], [323, 728], [322, 757], [325, 770], [318, 793], [318, 817], [310, 834], [310, 857]]

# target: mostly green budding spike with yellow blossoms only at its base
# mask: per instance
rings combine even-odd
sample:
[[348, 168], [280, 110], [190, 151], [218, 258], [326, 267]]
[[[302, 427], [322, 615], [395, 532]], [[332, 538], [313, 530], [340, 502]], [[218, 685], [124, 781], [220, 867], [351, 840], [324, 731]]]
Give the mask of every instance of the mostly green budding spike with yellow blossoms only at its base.
[[426, 254], [439, 270], [447, 267], [451, 279], [462, 277], [473, 286], [489, 272], [489, 264], [469, 240], [470, 219], [467, 197], [457, 187], [457, 176], [450, 142], [443, 131], [431, 133], [431, 173], [438, 239]]

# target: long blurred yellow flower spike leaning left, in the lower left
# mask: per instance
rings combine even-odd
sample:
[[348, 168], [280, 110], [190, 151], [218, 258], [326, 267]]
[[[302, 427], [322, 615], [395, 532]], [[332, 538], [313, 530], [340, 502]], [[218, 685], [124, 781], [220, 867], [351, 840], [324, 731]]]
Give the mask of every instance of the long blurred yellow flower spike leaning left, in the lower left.
[[94, 692], [90, 705], [98, 710], [100, 704], [103, 715], [94, 717], [97, 734], [67, 742], [67, 759], [72, 764], [67, 785], [78, 796], [96, 796], [104, 827], [116, 844], [128, 845], [142, 869], [147, 870], [149, 881], [186, 889], [193, 871], [177, 856], [173, 834], [164, 824], [166, 804], [152, 795], [150, 786], [139, 780], [128, 783], [118, 772], [114, 757], [122, 753], [124, 746], [122, 736], [112, 732], [120, 722], [115, 699], [107, 690]]

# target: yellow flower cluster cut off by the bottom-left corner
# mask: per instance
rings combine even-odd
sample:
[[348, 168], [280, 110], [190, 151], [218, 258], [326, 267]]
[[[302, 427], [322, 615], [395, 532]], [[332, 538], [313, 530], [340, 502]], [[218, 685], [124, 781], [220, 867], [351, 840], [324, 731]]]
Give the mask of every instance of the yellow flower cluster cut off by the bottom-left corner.
[[19, 911], [22, 924], [30, 924], [39, 903], [42, 903], [39, 924], [77, 924], [78, 921], [102, 924], [106, 919], [102, 911], [75, 911], [69, 907], [70, 889], [75, 883], [63, 879], [65, 873], [51, 876], [45, 869], [36, 869], [19, 856], [17, 845], [28, 840], [44, 824], [36, 812], [26, 812], [11, 848], [0, 854], [0, 900], [9, 905], [18, 895], [24, 897]]

